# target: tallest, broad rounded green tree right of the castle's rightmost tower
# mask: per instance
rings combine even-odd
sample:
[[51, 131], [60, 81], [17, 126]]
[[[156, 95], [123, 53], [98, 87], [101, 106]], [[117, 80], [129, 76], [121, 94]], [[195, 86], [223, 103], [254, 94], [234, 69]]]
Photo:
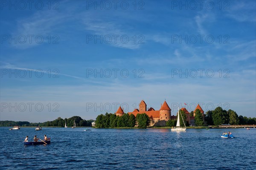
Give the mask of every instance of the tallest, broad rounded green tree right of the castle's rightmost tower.
[[212, 111], [212, 120], [214, 125], [228, 124], [229, 115], [227, 111], [223, 110], [221, 107], [217, 107]]

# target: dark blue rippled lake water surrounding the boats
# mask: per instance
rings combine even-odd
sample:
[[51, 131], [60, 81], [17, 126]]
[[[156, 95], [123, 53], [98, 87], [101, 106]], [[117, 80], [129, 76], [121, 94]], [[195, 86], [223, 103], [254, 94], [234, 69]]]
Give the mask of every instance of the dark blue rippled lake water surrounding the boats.
[[[0, 128], [0, 169], [4, 170], [256, 170], [256, 128], [93, 129]], [[234, 139], [222, 139], [231, 131]], [[24, 146], [34, 135], [48, 145]]]

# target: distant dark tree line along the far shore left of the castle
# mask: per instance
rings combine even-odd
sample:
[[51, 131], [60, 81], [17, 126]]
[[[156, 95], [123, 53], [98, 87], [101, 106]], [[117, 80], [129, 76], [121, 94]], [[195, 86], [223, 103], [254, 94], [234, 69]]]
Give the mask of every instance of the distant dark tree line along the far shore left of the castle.
[[67, 126], [71, 127], [74, 124], [74, 121], [76, 122], [76, 126], [92, 126], [92, 122], [94, 120], [85, 120], [82, 119], [80, 116], [73, 116], [70, 118], [62, 119], [61, 117], [58, 117], [57, 119], [53, 121], [47, 121], [43, 123], [30, 123], [30, 122], [15, 122], [15, 121], [0, 121], [0, 127], [6, 127], [6, 126], [56, 126], [56, 127], [64, 127], [65, 122], [67, 122]]

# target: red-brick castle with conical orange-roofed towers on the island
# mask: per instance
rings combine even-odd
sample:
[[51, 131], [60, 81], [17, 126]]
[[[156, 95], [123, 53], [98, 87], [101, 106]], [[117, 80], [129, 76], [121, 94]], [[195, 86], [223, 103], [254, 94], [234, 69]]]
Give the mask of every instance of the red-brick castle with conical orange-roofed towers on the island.
[[[194, 116], [195, 116], [195, 111], [199, 109], [204, 117], [204, 111], [198, 104], [197, 107], [194, 110]], [[189, 122], [189, 125], [195, 125], [195, 117], [190, 116], [189, 111], [186, 110], [186, 108], [181, 108], [180, 110], [184, 111], [186, 113], [186, 121]], [[146, 113], [151, 120], [150, 126], [165, 126], [166, 122], [169, 119], [176, 119], [176, 116], [171, 116], [171, 108], [169, 105], [166, 103], [166, 101], [163, 102], [163, 105], [161, 104], [161, 107], [158, 111], [154, 110], [154, 108], [148, 108], [147, 110], [147, 104], [145, 103], [144, 100], [142, 100], [139, 104], [139, 109], [134, 109], [133, 112], [128, 112], [128, 114], [133, 114], [135, 117], [137, 116], [138, 113]], [[119, 106], [118, 110], [116, 111], [116, 116], [122, 116], [124, 114], [123, 109], [121, 106]]]

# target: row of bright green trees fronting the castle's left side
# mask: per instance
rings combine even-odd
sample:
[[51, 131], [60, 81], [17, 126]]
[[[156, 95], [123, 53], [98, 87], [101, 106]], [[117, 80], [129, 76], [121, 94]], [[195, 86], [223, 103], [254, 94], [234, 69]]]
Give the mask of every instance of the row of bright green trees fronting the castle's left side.
[[138, 125], [140, 128], [146, 128], [150, 124], [150, 119], [146, 113], [138, 113], [136, 118], [133, 114], [125, 113], [122, 116], [106, 113], [97, 116], [95, 126], [99, 128], [114, 127], [134, 127]]

